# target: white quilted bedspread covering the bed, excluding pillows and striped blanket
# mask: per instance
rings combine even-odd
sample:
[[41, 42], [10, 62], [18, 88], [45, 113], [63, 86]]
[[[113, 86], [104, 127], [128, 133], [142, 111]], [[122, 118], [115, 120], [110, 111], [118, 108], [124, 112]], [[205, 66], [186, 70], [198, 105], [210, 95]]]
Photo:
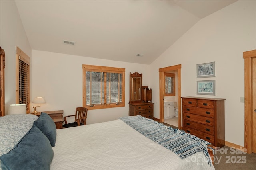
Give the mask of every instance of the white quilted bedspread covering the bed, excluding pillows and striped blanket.
[[52, 149], [51, 170], [214, 169], [202, 152], [182, 160], [122, 120], [57, 129]]

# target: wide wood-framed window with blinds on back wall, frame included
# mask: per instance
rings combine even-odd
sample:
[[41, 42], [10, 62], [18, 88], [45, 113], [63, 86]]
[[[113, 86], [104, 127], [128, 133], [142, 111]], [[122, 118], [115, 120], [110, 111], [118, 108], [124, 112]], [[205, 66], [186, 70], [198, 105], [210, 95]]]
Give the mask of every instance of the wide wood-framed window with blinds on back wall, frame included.
[[83, 107], [124, 107], [125, 68], [83, 65]]

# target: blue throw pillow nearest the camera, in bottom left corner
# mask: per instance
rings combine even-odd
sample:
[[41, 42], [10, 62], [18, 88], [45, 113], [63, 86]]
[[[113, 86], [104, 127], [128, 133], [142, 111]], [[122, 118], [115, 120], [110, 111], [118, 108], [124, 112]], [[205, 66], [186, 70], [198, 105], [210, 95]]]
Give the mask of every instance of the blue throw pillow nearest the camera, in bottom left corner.
[[0, 160], [2, 170], [49, 170], [52, 158], [50, 141], [38, 127], [33, 126]]

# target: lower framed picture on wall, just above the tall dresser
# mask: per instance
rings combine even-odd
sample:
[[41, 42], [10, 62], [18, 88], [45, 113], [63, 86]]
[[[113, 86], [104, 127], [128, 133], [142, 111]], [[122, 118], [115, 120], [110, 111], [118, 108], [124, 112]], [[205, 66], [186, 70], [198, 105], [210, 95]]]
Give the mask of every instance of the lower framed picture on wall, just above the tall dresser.
[[196, 94], [215, 95], [215, 80], [196, 81]]

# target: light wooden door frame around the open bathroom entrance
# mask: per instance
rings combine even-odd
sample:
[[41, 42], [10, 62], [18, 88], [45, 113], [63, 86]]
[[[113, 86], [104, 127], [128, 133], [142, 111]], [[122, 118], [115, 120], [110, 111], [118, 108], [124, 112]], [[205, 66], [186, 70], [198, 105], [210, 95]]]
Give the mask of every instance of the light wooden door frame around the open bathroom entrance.
[[160, 117], [159, 121], [164, 122], [164, 94], [165, 94], [165, 83], [164, 83], [164, 73], [165, 72], [178, 72], [178, 128], [181, 127], [181, 64], [175, 66], [169, 66], [164, 68], [159, 68], [159, 104], [160, 104]]

